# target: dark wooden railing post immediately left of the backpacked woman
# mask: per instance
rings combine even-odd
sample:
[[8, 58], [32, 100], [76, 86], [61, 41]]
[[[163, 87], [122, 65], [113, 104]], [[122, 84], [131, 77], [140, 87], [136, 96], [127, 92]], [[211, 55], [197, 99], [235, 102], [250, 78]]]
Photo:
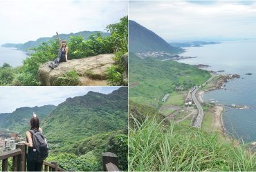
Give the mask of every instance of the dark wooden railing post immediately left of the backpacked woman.
[[26, 152], [27, 152], [27, 147], [26, 144], [24, 143], [18, 143], [16, 144], [16, 149], [21, 149], [21, 155], [18, 155], [17, 157], [17, 171], [26, 171]]

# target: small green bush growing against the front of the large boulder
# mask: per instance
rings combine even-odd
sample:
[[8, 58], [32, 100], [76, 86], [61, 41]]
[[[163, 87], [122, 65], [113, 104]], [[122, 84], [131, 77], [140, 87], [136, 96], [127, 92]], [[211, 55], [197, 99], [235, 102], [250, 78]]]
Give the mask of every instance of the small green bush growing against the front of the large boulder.
[[56, 78], [53, 82], [53, 85], [60, 86], [60, 85], [79, 85], [80, 80], [78, 74], [75, 70], [71, 70], [66, 72], [63, 76]]

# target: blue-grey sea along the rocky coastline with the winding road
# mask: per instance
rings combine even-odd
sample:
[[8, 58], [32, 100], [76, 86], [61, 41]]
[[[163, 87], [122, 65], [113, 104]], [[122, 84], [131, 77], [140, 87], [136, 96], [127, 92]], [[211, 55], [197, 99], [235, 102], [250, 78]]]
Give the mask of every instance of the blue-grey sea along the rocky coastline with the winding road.
[[[204, 94], [205, 101], [229, 105], [246, 105], [248, 109], [226, 107], [223, 123], [226, 131], [244, 142], [256, 141], [256, 40], [227, 41], [220, 44], [188, 47], [182, 56], [197, 56], [179, 61], [191, 65], [210, 65], [207, 70], [225, 70], [219, 74], [239, 74], [241, 77]], [[246, 75], [252, 73], [252, 75]]]

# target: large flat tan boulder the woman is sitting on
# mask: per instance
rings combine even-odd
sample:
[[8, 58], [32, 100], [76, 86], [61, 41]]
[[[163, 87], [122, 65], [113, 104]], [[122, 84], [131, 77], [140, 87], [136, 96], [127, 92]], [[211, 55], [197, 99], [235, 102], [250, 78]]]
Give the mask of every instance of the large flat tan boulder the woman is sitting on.
[[42, 85], [54, 85], [56, 78], [71, 70], [79, 75], [80, 85], [107, 85], [107, 69], [114, 65], [114, 54], [100, 54], [87, 58], [73, 59], [60, 63], [55, 69], [48, 67], [50, 62], [39, 66], [38, 78]]

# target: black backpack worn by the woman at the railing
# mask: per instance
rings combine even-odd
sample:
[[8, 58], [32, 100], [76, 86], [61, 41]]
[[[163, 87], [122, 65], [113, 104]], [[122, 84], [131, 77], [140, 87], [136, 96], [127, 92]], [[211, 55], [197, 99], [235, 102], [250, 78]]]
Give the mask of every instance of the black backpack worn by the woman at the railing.
[[43, 162], [48, 157], [49, 144], [42, 132], [32, 129], [29, 132], [32, 135], [33, 148], [28, 151], [28, 161]]

